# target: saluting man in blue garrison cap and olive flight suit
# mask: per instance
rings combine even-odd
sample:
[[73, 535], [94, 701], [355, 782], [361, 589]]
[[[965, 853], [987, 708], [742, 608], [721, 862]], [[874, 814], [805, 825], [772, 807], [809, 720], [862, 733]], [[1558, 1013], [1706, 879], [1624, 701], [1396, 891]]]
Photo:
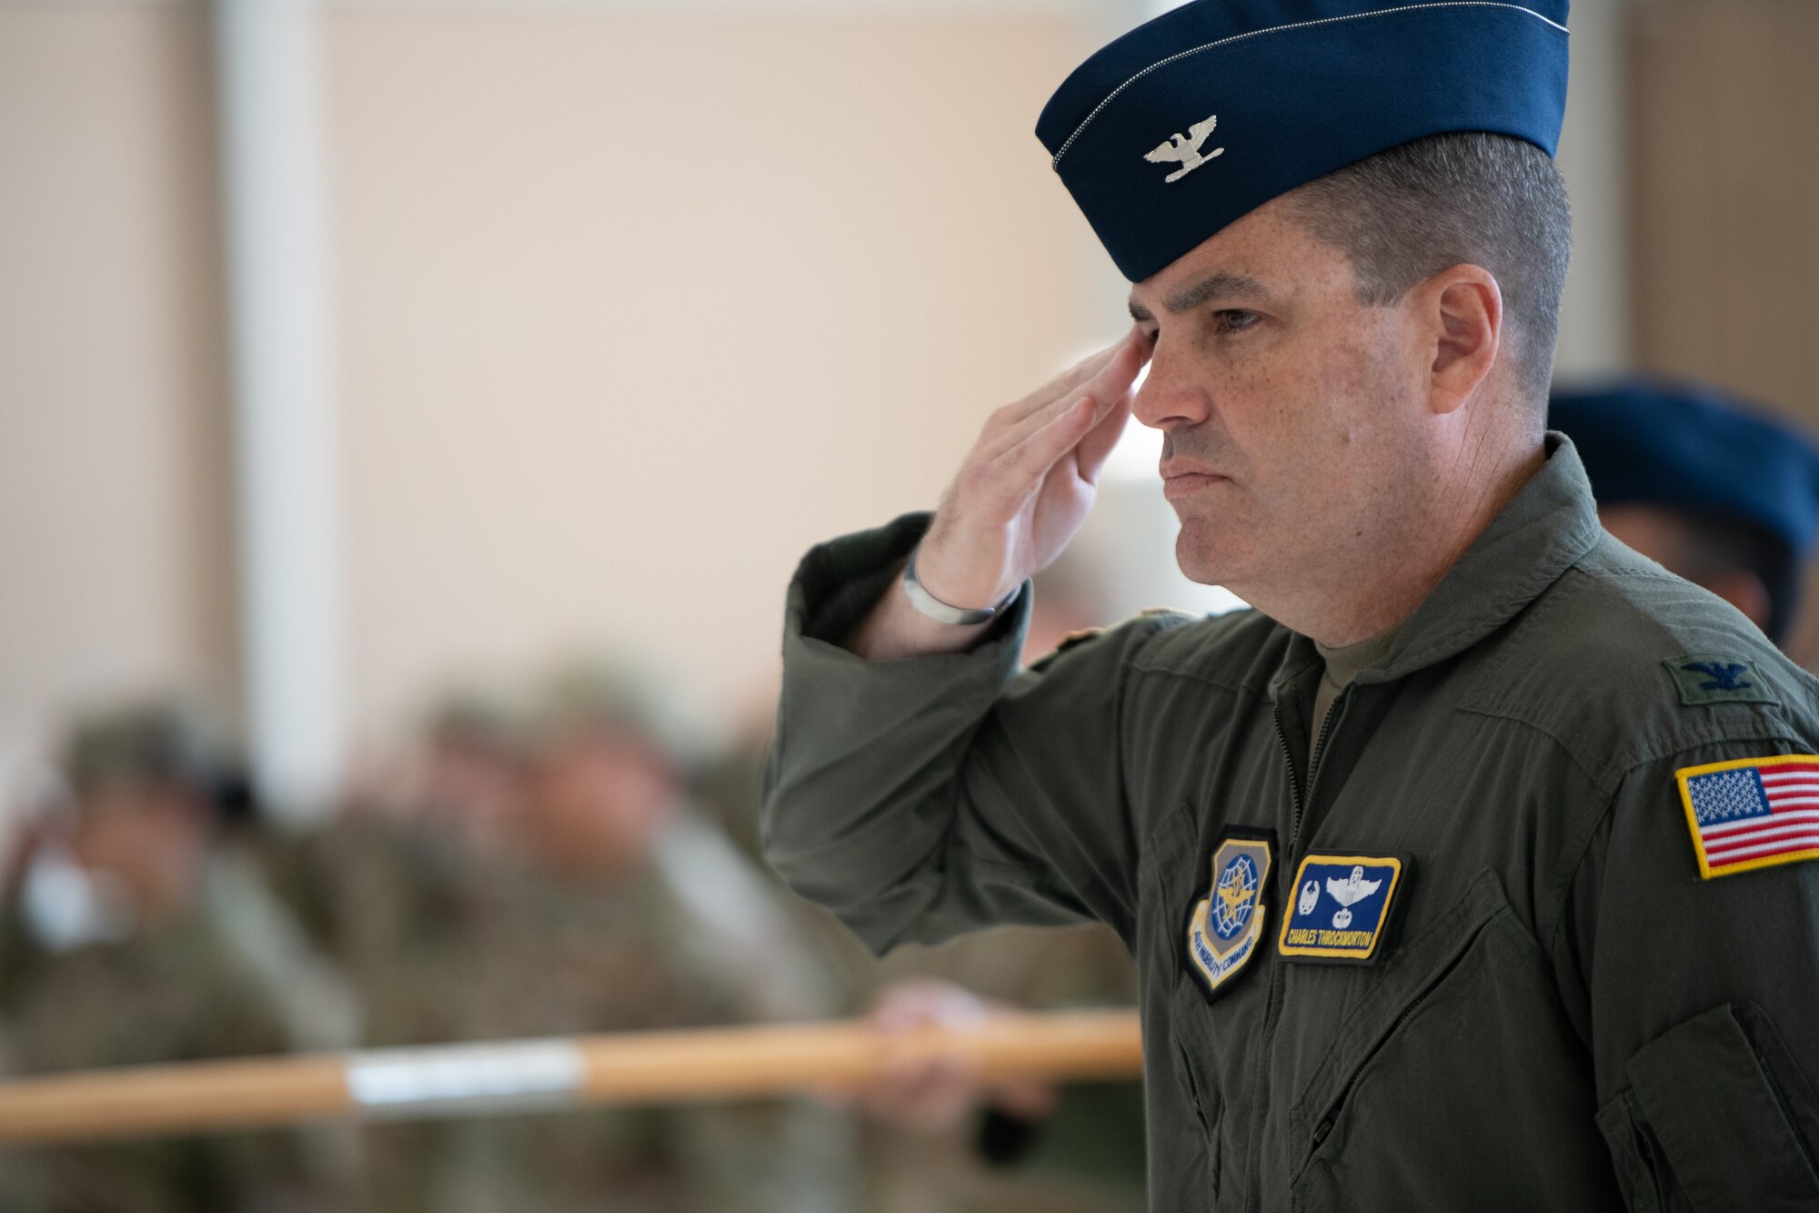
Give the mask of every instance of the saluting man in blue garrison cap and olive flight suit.
[[[1544, 432], [1566, 16], [1197, 0], [1093, 55], [1037, 135], [1133, 331], [789, 588], [771, 860], [880, 951], [1110, 923], [1157, 1209], [1819, 1206], [1819, 685]], [[1128, 412], [1255, 610], [1019, 672]]]

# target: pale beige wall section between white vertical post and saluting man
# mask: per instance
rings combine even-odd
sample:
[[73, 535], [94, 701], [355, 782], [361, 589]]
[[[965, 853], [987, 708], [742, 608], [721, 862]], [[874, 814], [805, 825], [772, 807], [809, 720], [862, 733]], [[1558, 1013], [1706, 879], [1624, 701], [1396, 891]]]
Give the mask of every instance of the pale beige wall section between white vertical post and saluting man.
[[635, 645], [768, 683], [815, 539], [1086, 342], [1070, 24], [340, 9], [357, 718]]

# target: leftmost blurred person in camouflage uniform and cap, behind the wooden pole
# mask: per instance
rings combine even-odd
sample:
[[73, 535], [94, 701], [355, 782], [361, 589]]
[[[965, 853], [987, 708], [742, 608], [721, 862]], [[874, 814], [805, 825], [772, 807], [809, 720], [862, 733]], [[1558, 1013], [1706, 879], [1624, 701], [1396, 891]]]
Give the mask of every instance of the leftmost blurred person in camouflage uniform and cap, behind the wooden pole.
[[[184, 705], [71, 729], [65, 794], [27, 823], [0, 907], [9, 1075], [347, 1044], [346, 1031], [320, 1035], [324, 1022], [347, 1027], [344, 991], [256, 869], [220, 845], [224, 818], [249, 809], [236, 772], [206, 716]], [[304, 949], [293, 973], [286, 949]], [[322, 994], [317, 982], [326, 1020], [296, 1014], [306, 991]], [[324, 1133], [20, 1147], [0, 1155], [0, 1208], [338, 1209], [351, 1169], [346, 1138]]]

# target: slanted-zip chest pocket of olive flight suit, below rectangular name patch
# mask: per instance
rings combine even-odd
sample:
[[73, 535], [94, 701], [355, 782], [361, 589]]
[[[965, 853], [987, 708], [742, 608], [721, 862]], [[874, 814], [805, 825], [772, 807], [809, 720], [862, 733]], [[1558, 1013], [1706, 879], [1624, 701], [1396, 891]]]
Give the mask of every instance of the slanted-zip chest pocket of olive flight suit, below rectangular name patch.
[[1497, 874], [1384, 962], [1290, 1113], [1295, 1209], [1621, 1208], [1590, 1067]]

